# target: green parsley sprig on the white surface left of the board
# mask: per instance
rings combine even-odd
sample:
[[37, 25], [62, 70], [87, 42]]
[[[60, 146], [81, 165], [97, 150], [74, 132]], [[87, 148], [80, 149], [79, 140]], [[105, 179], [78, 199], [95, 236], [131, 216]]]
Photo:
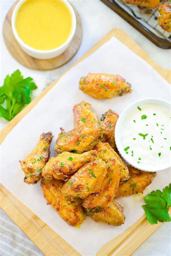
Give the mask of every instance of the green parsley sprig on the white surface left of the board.
[[18, 69], [5, 77], [0, 87], [0, 117], [10, 121], [31, 102], [32, 91], [37, 88], [32, 80], [24, 79]]

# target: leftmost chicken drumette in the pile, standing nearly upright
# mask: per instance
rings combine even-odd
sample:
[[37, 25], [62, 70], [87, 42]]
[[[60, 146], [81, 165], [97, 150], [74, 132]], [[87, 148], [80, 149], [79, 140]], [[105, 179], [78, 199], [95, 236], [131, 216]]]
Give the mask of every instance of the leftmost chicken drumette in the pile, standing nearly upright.
[[49, 160], [52, 138], [51, 131], [42, 133], [33, 151], [24, 160], [19, 161], [25, 173], [24, 182], [27, 184], [36, 184], [41, 179], [42, 169]]

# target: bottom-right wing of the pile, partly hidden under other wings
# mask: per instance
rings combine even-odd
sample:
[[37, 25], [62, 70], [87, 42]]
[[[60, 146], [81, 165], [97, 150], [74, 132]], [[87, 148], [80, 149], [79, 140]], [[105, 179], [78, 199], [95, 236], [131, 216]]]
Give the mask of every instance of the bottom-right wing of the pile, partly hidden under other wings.
[[113, 226], [120, 226], [124, 224], [125, 220], [123, 207], [114, 200], [97, 212], [89, 211], [88, 216], [95, 222], [103, 222]]

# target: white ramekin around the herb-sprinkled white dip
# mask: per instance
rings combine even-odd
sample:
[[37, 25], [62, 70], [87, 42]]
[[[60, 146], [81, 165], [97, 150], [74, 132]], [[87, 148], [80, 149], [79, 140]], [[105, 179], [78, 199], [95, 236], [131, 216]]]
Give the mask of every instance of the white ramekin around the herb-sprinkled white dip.
[[[134, 102], [133, 104], [128, 106], [119, 116], [118, 121], [115, 126], [115, 143], [116, 143], [117, 149], [118, 149], [120, 155], [123, 157], [123, 159], [126, 162], [128, 162], [128, 164], [132, 165], [133, 167], [135, 167], [139, 170], [140, 170], [140, 166], [137, 164], [137, 162], [134, 161], [129, 155], [125, 154], [124, 148], [121, 143], [121, 126], [122, 126], [124, 119], [128, 115], [128, 113], [130, 113], [131, 110], [133, 110], [135, 107], [137, 107], [137, 105], [143, 105], [143, 104], [157, 104], [157, 105], [161, 105], [169, 110], [171, 109], [171, 104], [166, 100], [147, 98], [147, 99], [142, 99], [142, 100], [138, 100], [138, 101]], [[158, 172], [158, 171], [167, 169], [170, 166], [171, 166], [171, 162], [170, 163], [168, 162], [167, 164], [162, 165], [162, 167], [161, 166], [158, 166], [156, 168], [149, 167], [147, 169], [145, 166], [143, 166], [141, 164], [141, 170], [146, 171], [146, 172]]]

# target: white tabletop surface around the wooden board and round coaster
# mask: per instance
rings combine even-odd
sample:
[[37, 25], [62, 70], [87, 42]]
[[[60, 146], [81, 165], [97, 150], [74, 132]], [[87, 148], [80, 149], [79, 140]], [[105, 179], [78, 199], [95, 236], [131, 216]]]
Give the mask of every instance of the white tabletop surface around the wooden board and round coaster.
[[[98, 42], [106, 33], [113, 28], [123, 29], [142, 49], [160, 66], [170, 69], [171, 50], [160, 49], [141, 35], [126, 21], [120, 18], [116, 13], [110, 10], [106, 5], [99, 0], [73, 0], [71, 3], [78, 10], [82, 19], [83, 25], [83, 39], [82, 44], [74, 56], [74, 58], [67, 64], [51, 71], [36, 71], [25, 68], [19, 64], [10, 55], [5, 47], [2, 26], [6, 13], [14, 0], [0, 0], [1, 13], [1, 67], [0, 67], [0, 81], [3, 84], [4, 78], [7, 74], [11, 74], [14, 70], [21, 70], [22, 74], [27, 77], [31, 76], [36, 81], [38, 89], [34, 91], [33, 97], [36, 97], [44, 90], [44, 88], [59, 75], [61, 75], [71, 64], [80, 58], [85, 52], [88, 51], [95, 43]], [[6, 121], [0, 118], [0, 125], [3, 128]], [[171, 225], [168, 223], [163, 224], [142, 246], [137, 249], [133, 255], [154, 255], [164, 256], [171, 254]]]

